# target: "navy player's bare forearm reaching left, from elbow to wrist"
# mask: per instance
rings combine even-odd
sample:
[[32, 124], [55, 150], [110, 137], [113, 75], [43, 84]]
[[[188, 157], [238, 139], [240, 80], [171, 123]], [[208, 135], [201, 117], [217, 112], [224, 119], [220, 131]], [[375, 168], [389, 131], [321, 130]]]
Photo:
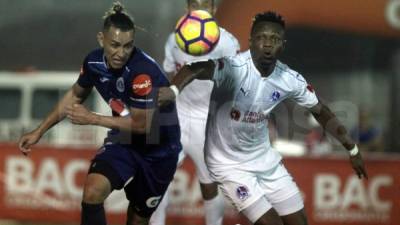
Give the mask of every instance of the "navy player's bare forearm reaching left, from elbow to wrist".
[[42, 136], [46, 131], [65, 118], [65, 107], [67, 105], [73, 105], [80, 102], [82, 102], [82, 98], [77, 97], [74, 94], [73, 89], [70, 89], [37, 128], [40, 135]]

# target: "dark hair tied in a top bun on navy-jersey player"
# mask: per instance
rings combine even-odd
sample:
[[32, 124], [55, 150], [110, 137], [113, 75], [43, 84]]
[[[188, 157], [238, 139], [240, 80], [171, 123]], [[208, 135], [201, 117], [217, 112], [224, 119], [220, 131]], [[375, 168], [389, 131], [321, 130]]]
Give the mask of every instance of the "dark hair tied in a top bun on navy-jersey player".
[[103, 18], [103, 30], [108, 30], [111, 26], [122, 31], [135, 30], [132, 17], [124, 11], [124, 6], [120, 2], [114, 2]]

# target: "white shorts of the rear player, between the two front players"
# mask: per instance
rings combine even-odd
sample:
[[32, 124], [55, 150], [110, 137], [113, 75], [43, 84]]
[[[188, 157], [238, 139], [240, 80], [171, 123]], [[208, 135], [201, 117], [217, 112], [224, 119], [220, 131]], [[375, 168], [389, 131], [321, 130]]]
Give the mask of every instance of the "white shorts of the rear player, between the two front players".
[[[195, 119], [184, 115], [179, 115], [179, 124], [181, 127], [181, 142], [183, 153], [188, 155], [196, 167], [197, 177], [200, 183], [213, 183], [210, 172], [204, 161], [204, 142], [206, 134], [207, 120]], [[179, 162], [183, 160], [182, 154]]]

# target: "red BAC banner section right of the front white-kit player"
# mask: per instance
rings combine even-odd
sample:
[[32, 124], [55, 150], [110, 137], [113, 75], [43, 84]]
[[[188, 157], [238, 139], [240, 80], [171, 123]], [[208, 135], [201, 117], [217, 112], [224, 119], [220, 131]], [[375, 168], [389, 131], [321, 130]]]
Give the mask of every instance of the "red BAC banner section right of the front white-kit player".
[[395, 225], [400, 221], [400, 160], [366, 160], [368, 180], [348, 160], [291, 158], [286, 167], [305, 197], [310, 224]]

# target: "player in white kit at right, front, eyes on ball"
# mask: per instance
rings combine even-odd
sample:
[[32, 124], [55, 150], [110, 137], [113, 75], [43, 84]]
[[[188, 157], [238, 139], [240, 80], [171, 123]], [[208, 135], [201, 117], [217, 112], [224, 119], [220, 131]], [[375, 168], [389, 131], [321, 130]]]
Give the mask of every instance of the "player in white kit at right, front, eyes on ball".
[[159, 92], [167, 104], [193, 79], [214, 81], [207, 122], [205, 160], [238, 211], [256, 225], [307, 224], [299, 188], [268, 139], [266, 118], [282, 100], [293, 99], [349, 150], [350, 163], [367, 178], [357, 146], [301, 74], [277, 57], [285, 44], [285, 22], [274, 12], [255, 16], [250, 50], [234, 57], [184, 66], [172, 86]]

